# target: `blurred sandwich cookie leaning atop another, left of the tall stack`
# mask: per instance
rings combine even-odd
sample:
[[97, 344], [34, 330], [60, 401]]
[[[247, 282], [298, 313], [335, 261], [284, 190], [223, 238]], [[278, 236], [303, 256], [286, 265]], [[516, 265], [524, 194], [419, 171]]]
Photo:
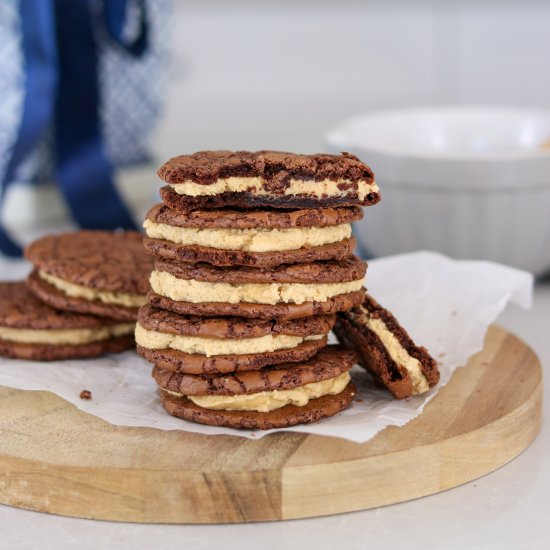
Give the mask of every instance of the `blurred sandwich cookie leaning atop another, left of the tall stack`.
[[25, 250], [35, 266], [29, 287], [49, 305], [135, 320], [145, 303], [153, 262], [133, 231], [50, 235]]

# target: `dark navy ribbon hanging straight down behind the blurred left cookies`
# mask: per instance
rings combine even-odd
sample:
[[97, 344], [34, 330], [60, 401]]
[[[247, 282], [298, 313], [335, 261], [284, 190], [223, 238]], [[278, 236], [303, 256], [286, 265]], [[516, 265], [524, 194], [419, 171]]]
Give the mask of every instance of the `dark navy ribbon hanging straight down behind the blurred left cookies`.
[[98, 60], [90, 8], [89, 0], [55, 2], [59, 56], [57, 180], [81, 227], [135, 229], [114, 187], [112, 166], [101, 140]]

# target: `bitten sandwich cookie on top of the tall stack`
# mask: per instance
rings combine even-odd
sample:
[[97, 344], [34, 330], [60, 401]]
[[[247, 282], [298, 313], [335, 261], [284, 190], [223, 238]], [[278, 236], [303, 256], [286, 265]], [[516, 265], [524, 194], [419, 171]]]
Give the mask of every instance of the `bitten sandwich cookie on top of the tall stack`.
[[371, 169], [357, 157], [277, 151], [202, 151], [175, 157], [158, 175], [167, 206], [304, 208], [369, 206], [380, 200]]

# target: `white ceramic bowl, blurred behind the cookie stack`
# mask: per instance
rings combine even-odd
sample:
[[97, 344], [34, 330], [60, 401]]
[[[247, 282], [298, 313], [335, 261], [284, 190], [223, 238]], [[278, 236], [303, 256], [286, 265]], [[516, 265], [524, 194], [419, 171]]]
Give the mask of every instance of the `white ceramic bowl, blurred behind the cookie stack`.
[[369, 164], [382, 202], [356, 226], [363, 251], [417, 249], [550, 270], [550, 111], [375, 112], [327, 134]]

